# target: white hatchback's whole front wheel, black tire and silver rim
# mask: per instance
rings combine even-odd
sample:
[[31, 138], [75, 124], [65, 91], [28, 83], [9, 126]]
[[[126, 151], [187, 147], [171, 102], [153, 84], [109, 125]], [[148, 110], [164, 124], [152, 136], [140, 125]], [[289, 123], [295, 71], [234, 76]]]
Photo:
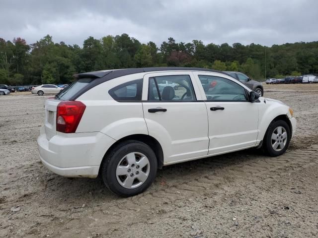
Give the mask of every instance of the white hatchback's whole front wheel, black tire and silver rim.
[[270, 123], [263, 140], [264, 151], [272, 157], [285, 153], [291, 139], [291, 131], [284, 120]]

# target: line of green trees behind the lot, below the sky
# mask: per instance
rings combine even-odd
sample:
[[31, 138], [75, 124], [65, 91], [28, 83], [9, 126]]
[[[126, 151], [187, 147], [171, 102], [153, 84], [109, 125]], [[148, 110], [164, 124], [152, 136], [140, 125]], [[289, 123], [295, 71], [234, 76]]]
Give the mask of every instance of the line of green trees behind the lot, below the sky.
[[[266, 51], [266, 57], [265, 57]], [[266, 69], [265, 69], [266, 59]], [[102, 69], [185, 66], [241, 71], [254, 79], [318, 73], [318, 41], [265, 47], [203, 44], [200, 40], [175, 42], [168, 38], [157, 46], [142, 44], [128, 34], [88, 37], [82, 47], [54, 43], [47, 35], [33, 44], [18, 37], [0, 38], [0, 84], [65, 84], [72, 75]]]

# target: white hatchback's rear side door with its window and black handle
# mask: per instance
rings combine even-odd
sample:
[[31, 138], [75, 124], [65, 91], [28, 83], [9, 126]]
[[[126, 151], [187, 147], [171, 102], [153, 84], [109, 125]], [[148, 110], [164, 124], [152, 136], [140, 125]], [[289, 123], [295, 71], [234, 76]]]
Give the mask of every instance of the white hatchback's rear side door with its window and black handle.
[[[163, 81], [175, 83], [177, 89]], [[162, 146], [164, 163], [208, 154], [207, 110], [190, 71], [146, 74], [143, 109], [149, 135]]]

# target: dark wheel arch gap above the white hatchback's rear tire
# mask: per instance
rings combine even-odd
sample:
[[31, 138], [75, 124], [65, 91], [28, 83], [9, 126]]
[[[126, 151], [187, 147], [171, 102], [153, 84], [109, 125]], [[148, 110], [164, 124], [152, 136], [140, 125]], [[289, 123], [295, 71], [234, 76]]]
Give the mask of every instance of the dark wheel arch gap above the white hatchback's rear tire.
[[[152, 148], [156, 154], [157, 161], [158, 161], [158, 168], [161, 169], [163, 167], [163, 150], [162, 147], [157, 139], [154, 137], [147, 135], [147, 134], [133, 134], [125, 136], [119, 140], [117, 140], [115, 143], [113, 143], [108, 150], [106, 151], [101, 164], [104, 162], [105, 158], [107, 158], [107, 155], [112, 151], [113, 148], [115, 148], [118, 144], [127, 141], [127, 140], [137, 140], [141, 141], [145, 144], [147, 144], [150, 148]], [[99, 167], [99, 173], [100, 174], [101, 166]]]

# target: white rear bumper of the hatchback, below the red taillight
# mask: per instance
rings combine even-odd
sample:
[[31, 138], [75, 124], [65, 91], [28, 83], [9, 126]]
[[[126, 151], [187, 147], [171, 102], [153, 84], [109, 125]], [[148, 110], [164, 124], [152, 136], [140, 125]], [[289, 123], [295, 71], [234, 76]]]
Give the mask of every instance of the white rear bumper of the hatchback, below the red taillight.
[[48, 140], [43, 126], [37, 142], [43, 165], [53, 173], [96, 178], [103, 156], [115, 140], [100, 132], [62, 133]]

